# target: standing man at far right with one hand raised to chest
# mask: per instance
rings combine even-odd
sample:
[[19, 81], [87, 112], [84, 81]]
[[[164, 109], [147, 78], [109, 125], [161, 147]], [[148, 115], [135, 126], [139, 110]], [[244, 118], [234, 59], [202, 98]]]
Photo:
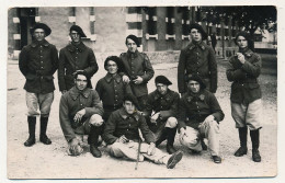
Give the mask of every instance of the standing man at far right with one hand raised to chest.
[[240, 148], [236, 157], [247, 155], [248, 128], [252, 141], [252, 160], [261, 161], [259, 152], [262, 121], [261, 89], [258, 78], [261, 71], [261, 58], [252, 52], [253, 41], [246, 32], [236, 36], [239, 53], [232, 56], [227, 68], [227, 78], [231, 84], [231, 115], [239, 129]]

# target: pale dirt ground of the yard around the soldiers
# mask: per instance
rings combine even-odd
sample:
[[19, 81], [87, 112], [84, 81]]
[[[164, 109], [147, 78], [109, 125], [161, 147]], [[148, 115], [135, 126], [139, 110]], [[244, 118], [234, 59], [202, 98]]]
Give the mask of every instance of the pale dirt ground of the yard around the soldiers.
[[[47, 135], [53, 140], [50, 146], [37, 141], [26, 148], [23, 142], [27, 138], [24, 77], [19, 71], [15, 61], [8, 64], [8, 178], [9, 179], [112, 179], [112, 178], [249, 178], [275, 176], [277, 174], [277, 69], [274, 56], [263, 55], [263, 69], [260, 83], [263, 92], [263, 128], [261, 129], [260, 152], [262, 162], [251, 160], [251, 141], [248, 139], [249, 152], [237, 158], [235, 150], [239, 147], [238, 131], [230, 115], [230, 83], [225, 75], [225, 60], [218, 60], [218, 90], [216, 96], [226, 115], [220, 123], [220, 155], [221, 164], [215, 164], [207, 151], [201, 155], [191, 155], [183, 149], [178, 140], [175, 148], [184, 152], [183, 159], [173, 170], [166, 165], [149, 161], [140, 162], [135, 171], [135, 162], [117, 160], [107, 155], [104, 147], [100, 147], [103, 157], [93, 158], [86, 152], [80, 157], [70, 157], [66, 153], [67, 142], [64, 138], [58, 117], [60, 93], [55, 79], [55, 101], [52, 106]], [[92, 83], [106, 72], [103, 69], [103, 59], [98, 58], [100, 71], [93, 77]], [[153, 65], [156, 76], [164, 75], [173, 82], [170, 88], [176, 91], [176, 62]], [[155, 76], [155, 77], [156, 77]], [[155, 90], [153, 79], [149, 82], [149, 91]], [[38, 118], [37, 118], [38, 121]], [[159, 146], [166, 151], [166, 142]]]

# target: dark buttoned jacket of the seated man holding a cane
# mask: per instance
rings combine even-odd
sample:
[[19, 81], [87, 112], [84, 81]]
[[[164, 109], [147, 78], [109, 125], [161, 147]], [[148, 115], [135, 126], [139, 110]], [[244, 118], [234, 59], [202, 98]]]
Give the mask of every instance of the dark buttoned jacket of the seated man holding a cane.
[[148, 144], [155, 142], [155, 136], [148, 128], [145, 117], [136, 112], [129, 115], [122, 107], [110, 115], [105, 124], [103, 139], [107, 145], [112, 145], [117, 138], [125, 135], [127, 139], [138, 141], [138, 128]]

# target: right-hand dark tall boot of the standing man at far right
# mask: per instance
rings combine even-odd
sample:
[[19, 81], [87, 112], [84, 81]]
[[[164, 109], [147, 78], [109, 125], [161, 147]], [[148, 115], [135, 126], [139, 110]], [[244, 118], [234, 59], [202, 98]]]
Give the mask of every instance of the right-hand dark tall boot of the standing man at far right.
[[261, 156], [259, 151], [260, 147], [260, 130], [250, 130], [250, 137], [251, 137], [251, 142], [252, 142], [252, 160], [254, 162], [260, 162], [261, 161]]

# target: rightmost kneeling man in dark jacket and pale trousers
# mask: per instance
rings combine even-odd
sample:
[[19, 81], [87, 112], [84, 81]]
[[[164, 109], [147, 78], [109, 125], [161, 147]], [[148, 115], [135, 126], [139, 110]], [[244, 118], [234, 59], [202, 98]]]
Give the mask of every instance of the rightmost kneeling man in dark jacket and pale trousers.
[[205, 88], [198, 76], [189, 78], [187, 93], [180, 100], [180, 142], [195, 153], [202, 151], [201, 138], [207, 138], [214, 162], [220, 163], [219, 122], [225, 115], [216, 96]]

